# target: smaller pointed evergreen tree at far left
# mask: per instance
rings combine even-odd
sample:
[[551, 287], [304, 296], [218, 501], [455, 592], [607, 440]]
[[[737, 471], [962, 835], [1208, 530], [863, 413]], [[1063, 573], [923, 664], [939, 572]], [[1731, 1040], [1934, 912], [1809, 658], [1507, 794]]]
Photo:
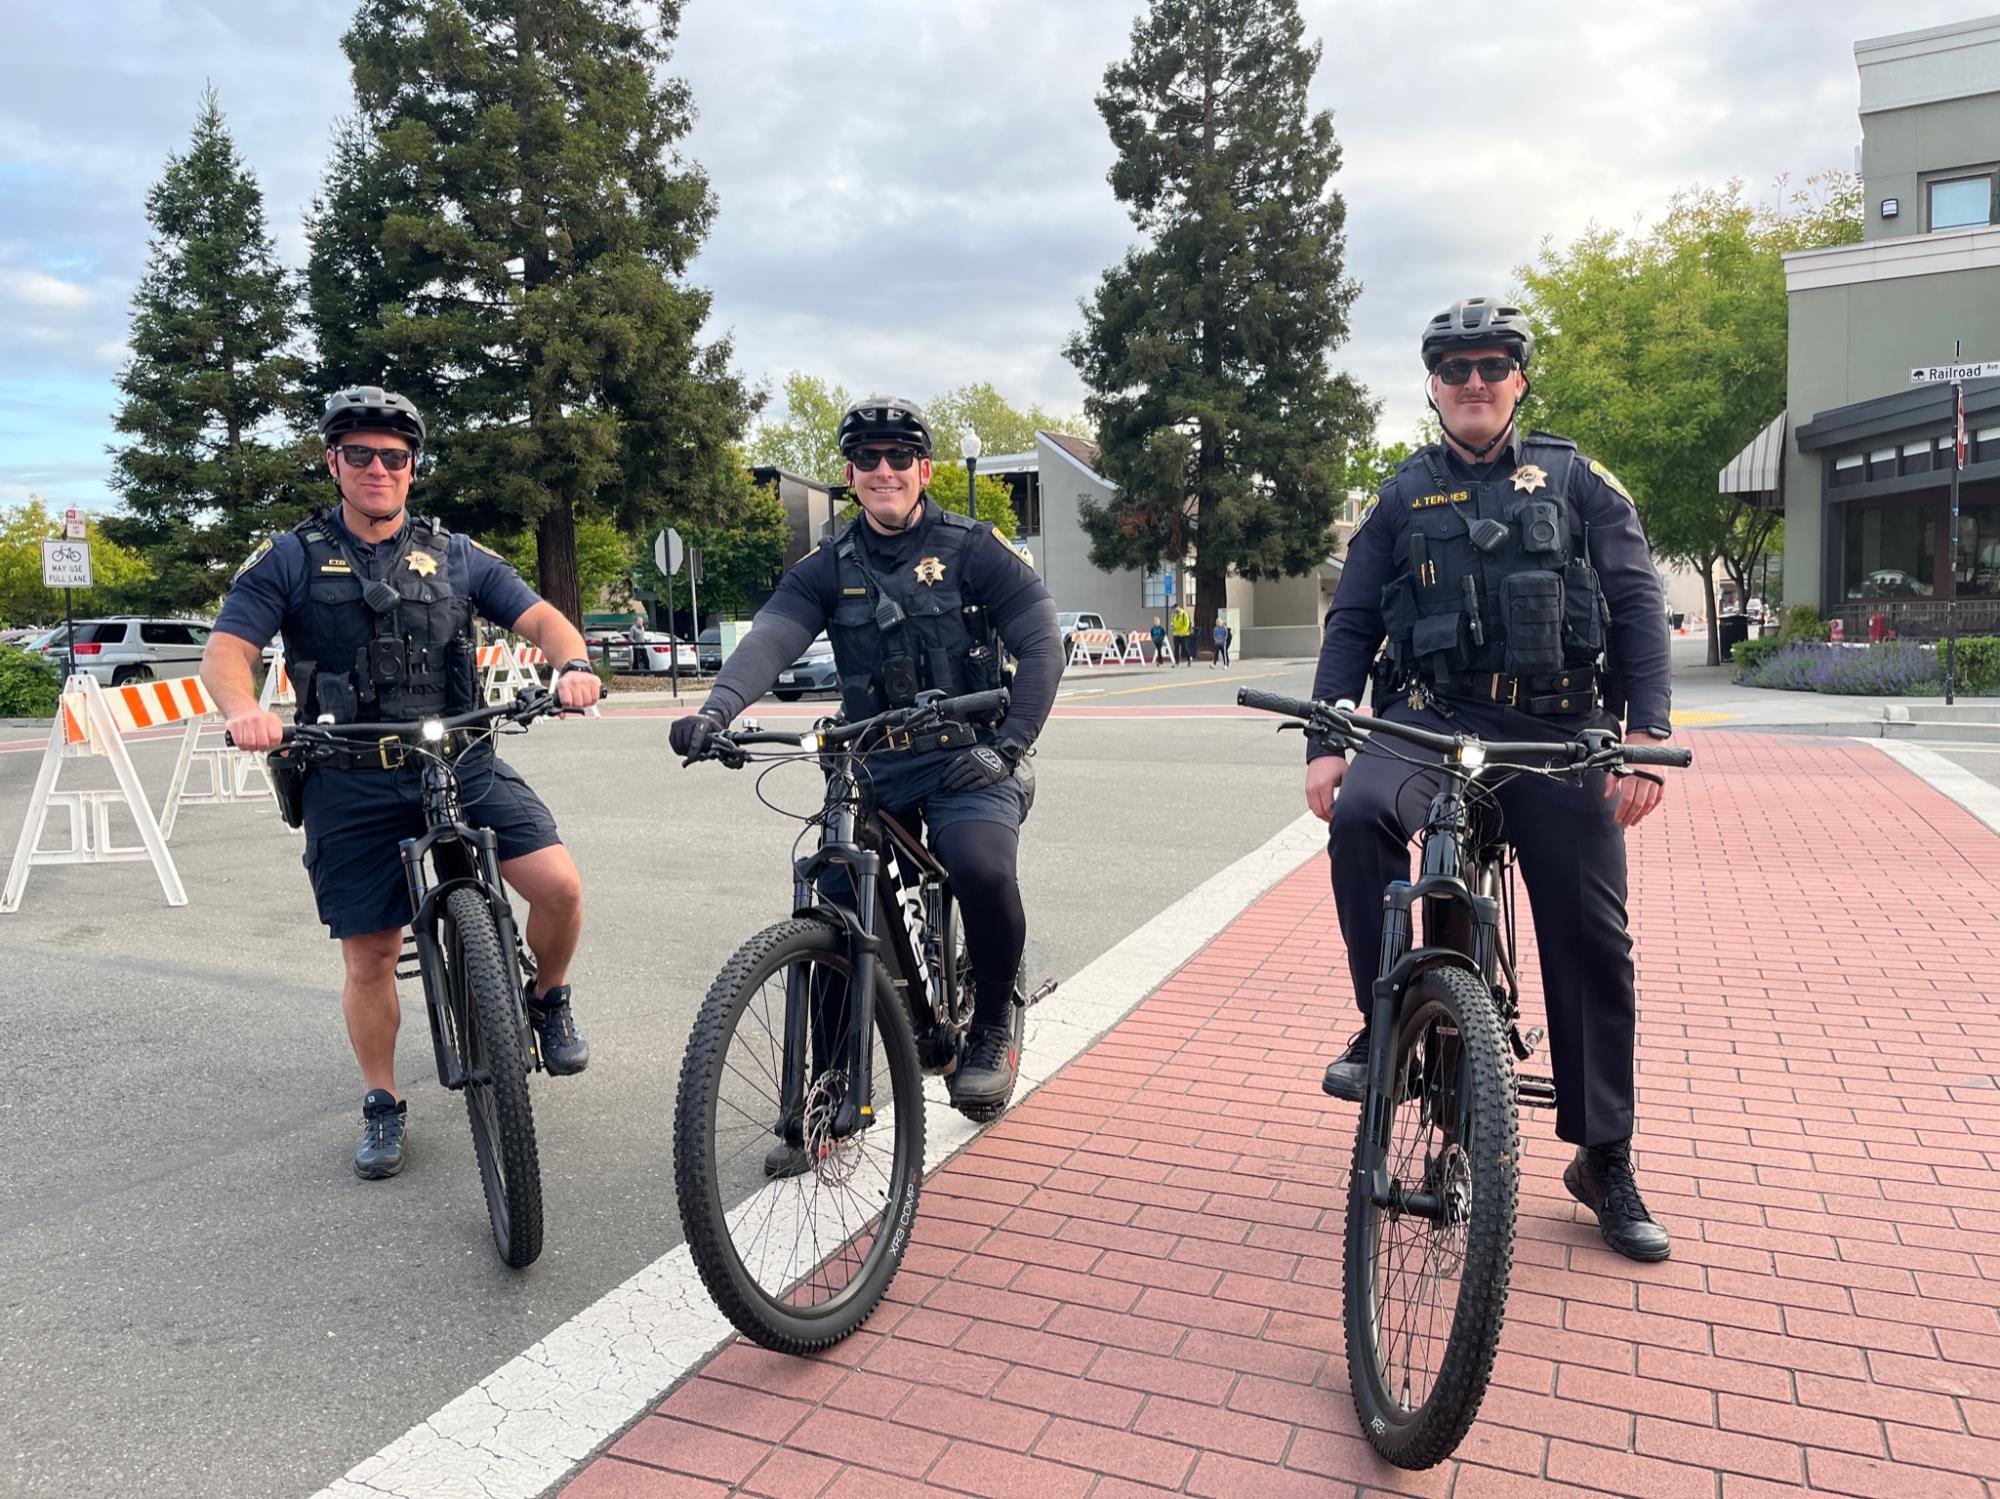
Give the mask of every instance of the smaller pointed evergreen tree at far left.
[[154, 572], [148, 604], [202, 610], [252, 542], [298, 522], [310, 470], [284, 420], [298, 402], [292, 278], [264, 228], [264, 194], [202, 94], [186, 154], [146, 196], [152, 258], [132, 296], [118, 376], [112, 488], [128, 516], [106, 534]]

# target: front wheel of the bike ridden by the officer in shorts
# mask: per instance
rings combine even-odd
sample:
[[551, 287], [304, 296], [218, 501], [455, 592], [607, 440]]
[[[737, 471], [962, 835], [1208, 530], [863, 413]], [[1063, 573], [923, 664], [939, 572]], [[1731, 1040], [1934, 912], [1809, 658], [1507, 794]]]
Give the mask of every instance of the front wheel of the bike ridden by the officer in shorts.
[[444, 1017], [466, 1069], [472, 1153], [480, 1161], [494, 1247], [514, 1269], [542, 1253], [542, 1161], [528, 1105], [528, 1061], [508, 959], [486, 895], [444, 895]]

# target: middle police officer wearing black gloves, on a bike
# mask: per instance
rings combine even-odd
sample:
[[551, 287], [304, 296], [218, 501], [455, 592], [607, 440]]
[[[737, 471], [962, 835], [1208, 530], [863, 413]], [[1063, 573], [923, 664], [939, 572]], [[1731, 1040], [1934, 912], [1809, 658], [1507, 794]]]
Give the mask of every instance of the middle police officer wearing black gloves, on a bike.
[[[1020, 1067], [1008, 1005], [1028, 939], [1016, 855], [1028, 787], [1016, 773], [1042, 732], [1062, 676], [1056, 606], [1030, 568], [984, 522], [932, 500], [930, 422], [916, 402], [868, 396], [840, 418], [840, 454], [860, 516], [798, 562], [730, 654], [698, 714], [670, 730], [674, 753], [696, 755], [806, 644], [828, 634], [850, 722], [1002, 684], [1002, 644], [1016, 658], [1012, 706], [968, 750], [876, 751], [872, 791], [892, 813], [920, 811], [952, 879], [972, 959], [966, 1053], [948, 1079], [962, 1109], [1006, 1103]], [[838, 877], [838, 875], [836, 875]], [[796, 1163], [772, 1151], [766, 1169]]]

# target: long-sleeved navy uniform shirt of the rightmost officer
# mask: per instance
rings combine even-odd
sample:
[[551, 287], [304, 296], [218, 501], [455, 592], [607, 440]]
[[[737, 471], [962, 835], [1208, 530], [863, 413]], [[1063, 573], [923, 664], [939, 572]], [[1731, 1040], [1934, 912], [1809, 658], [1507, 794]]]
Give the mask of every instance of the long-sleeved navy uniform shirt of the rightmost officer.
[[[1520, 468], [1520, 450], [1522, 436], [1514, 432], [1500, 456], [1488, 464], [1468, 464], [1444, 444], [1434, 444], [1430, 454], [1440, 462], [1444, 478], [1478, 484]], [[1362, 524], [1348, 540], [1340, 586], [1326, 612], [1320, 670], [1312, 680], [1312, 696], [1320, 702], [1342, 698], [1360, 702], [1368, 668], [1386, 634], [1382, 590], [1408, 560], [1410, 502], [1428, 492], [1430, 480], [1422, 466], [1400, 470], [1370, 502]], [[1590, 564], [1610, 606], [1606, 654], [1626, 684], [1626, 724], [1666, 728], [1672, 702], [1670, 638], [1666, 612], [1660, 608], [1660, 576], [1638, 522], [1638, 508], [1612, 472], [1584, 454], [1570, 466], [1568, 498], [1574, 516], [1588, 528]], [[1312, 759], [1322, 753], [1326, 750], [1318, 746], [1308, 750]]]

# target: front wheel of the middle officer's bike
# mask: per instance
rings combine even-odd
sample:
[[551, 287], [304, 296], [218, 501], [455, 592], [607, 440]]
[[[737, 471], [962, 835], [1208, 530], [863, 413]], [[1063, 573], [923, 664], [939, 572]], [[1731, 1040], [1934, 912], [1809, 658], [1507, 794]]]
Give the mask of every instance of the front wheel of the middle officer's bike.
[[[674, 1187], [708, 1293], [748, 1337], [812, 1353], [888, 1291], [924, 1179], [924, 1077], [890, 985], [874, 993], [872, 1113], [836, 1065], [854, 965], [824, 921], [780, 921], [722, 965], [680, 1067]], [[786, 1015], [802, 1019], [786, 1051]], [[804, 1099], [784, 1115], [784, 1079]], [[858, 1127], [854, 1127], [858, 1125]]]

